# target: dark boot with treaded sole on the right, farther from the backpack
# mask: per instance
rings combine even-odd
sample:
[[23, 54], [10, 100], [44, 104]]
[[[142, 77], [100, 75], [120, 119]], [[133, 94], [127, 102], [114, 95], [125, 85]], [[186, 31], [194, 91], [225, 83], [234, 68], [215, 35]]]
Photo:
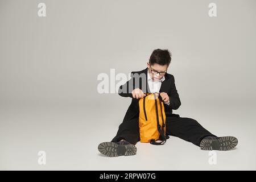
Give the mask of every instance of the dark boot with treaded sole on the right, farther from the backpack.
[[200, 142], [201, 150], [231, 150], [236, 147], [238, 140], [236, 137], [204, 137]]

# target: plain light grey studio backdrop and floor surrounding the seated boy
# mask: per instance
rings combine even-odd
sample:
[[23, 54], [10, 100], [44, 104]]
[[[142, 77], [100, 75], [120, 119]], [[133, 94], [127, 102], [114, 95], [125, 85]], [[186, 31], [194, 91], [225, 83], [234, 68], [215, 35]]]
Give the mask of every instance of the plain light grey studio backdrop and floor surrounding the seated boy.
[[[37, 14], [46, 3], [47, 16]], [[217, 17], [208, 5], [217, 4]], [[256, 169], [256, 1], [0, 1], [0, 169]], [[100, 73], [146, 68], [151, 52], [172, 52], [181, 106], [238, 146], [208, 151], [171, 137], [137, 143], [135, 156], [105, 158], [130, 104], [99, 94]], [[47, 164], [38, 164], [38, 151]], [[160, 158], [160, 159], [159, 159]], [[164, 163], [159, 163], [164, 161]]]

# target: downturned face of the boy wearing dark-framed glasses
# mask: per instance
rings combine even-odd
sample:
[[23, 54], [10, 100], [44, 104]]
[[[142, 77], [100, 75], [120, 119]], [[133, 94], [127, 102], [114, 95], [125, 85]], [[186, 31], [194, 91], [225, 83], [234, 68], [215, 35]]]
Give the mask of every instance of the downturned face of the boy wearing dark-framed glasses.
[[147, 63], [148, 73], [152, 80], [157, 81], [160, 80], [167, 72], [168, 65], [160, 65], [160, 64], [152, 64]]

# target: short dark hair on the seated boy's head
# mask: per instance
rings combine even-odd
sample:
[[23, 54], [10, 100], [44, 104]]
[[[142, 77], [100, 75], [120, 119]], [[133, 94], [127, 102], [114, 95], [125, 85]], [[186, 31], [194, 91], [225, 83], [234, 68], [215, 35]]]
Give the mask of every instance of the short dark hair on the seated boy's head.
[[171, 53], [168, 49], [155, 49], [149, 59], [149, 63], [152, 64], [160, 64], [160, 65], [169, 65], [171, 63]]

